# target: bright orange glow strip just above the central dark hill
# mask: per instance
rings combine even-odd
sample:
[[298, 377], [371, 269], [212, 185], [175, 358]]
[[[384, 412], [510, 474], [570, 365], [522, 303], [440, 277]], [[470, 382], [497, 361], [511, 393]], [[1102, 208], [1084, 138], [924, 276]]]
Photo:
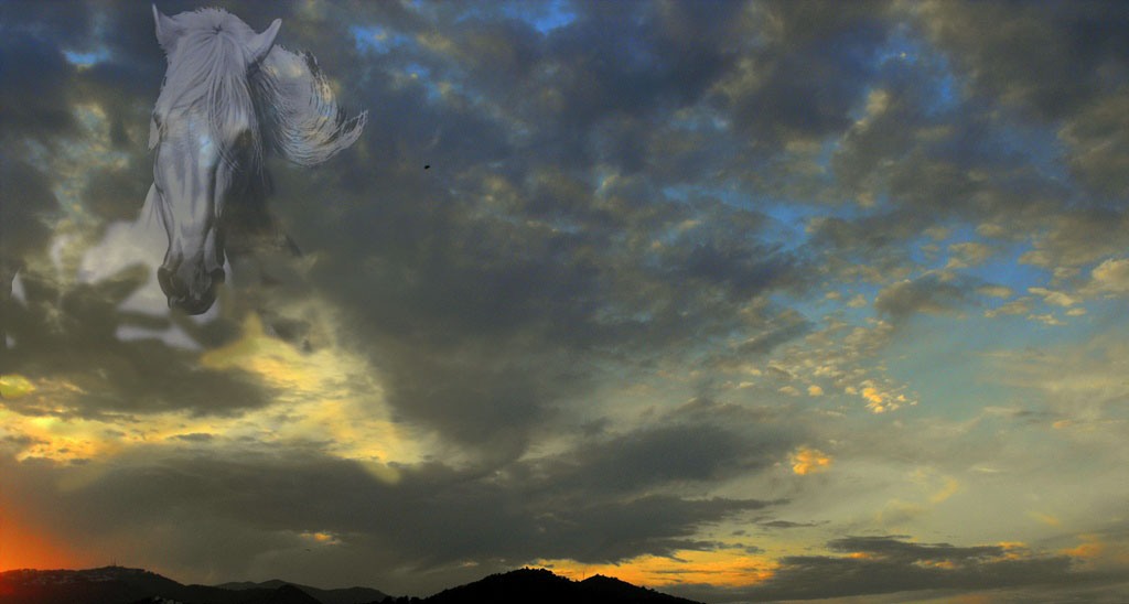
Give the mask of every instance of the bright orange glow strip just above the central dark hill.
[[594, 575], [647, 587], [708, 584], [747, 587], [770, 579], [779, 564], [745, 550], [680, 551], [675, 557], [640, 555], [619, 564], [585, 564], [575, 560], [539, 560], [539, 566], [572, 580]]

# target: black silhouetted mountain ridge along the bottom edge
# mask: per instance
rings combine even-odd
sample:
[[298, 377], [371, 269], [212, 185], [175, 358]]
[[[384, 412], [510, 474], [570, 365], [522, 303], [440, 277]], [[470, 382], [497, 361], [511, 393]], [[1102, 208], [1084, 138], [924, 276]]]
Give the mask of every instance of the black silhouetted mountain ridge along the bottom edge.
[[694, 604], [611, 577], [583, 581], [525, 568], [446, 589], [427, 598], [376, 589], [318, 589], [282, 580], [182, 585], [141, 569], [10, 570], [0, 572], [0, 604]]

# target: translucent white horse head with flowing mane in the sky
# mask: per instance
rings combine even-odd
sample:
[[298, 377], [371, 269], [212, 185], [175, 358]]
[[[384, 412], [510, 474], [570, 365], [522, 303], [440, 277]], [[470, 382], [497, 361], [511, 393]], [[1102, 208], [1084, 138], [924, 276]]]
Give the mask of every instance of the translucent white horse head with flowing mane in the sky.
[[150, 124], [146, 205], [167, 236], [157, 270], [167, 304], [196, 315], [225, 280], [226, 242], [266, 233], [288, 242], [265, 212], [264, 152], [318, 164], [360, 137], [366, 114], [345, 120], [313, 56], [274, 45], [279, 19], [255, 33], [220, 9], [152, 10], [168, 70]]

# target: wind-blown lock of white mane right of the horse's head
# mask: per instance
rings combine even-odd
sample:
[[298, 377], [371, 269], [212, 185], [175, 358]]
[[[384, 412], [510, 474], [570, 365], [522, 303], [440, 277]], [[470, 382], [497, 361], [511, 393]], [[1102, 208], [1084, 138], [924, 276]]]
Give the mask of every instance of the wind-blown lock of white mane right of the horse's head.
[[251, 81], [270, 149], [301, 166], [321, 164], [348, 148], [368, 120], [367, 112], [345, 119], [308, 52], [299, 55], [274, 45]]

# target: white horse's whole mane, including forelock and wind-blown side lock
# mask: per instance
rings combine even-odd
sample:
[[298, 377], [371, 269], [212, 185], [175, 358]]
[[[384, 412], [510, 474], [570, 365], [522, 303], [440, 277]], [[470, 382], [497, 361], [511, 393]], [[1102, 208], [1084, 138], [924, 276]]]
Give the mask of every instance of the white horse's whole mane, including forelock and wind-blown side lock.
[[[264, 150], [272, 150], [303, 166], [321, 164], [357, 141], [368, 119], [362, 112], [345, 119], [333, 91], [309, 53], [297, 55], [279, 45], [247, 72], [240, 35], [253, 34], [238, 17], [221, 9], [200, 9], [176, 17], [183, 27], [177, 38], [176, 65], [169, 70], [157, 98], [155, 115], [180, 106], [205, 103], [212, 140], [230, 160], [229, 124], [251, 131], [252, 160], [261, 166]], [[151, 123], [149, 148], [166, 128]]]

